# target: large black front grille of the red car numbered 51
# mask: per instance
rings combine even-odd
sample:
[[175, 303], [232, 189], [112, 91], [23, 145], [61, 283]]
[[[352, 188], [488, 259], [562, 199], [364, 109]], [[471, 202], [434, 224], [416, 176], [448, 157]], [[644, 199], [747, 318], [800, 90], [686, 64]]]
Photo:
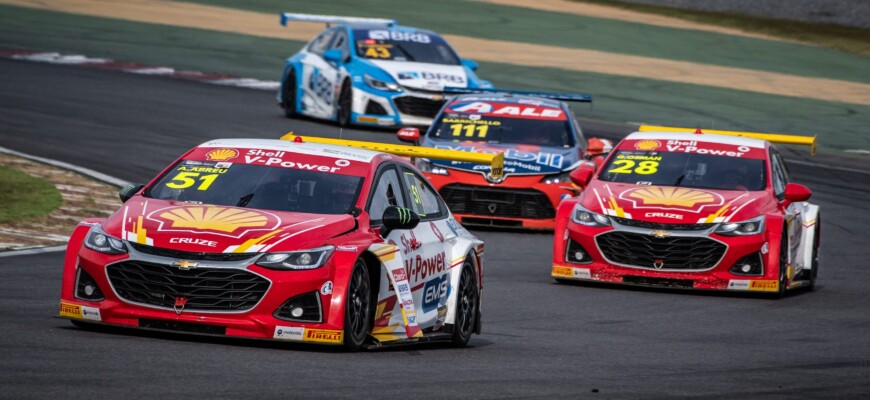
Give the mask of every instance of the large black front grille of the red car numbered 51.
[[[106, 269], [122, 299], [175, 308], [187, 298], [184, 311], [244, 311], [253, 308], [269, 289], [269, 281], [239, 269], [196, 268], [124, 261]], [[176, 311], [178, 309], [176, 308]]]

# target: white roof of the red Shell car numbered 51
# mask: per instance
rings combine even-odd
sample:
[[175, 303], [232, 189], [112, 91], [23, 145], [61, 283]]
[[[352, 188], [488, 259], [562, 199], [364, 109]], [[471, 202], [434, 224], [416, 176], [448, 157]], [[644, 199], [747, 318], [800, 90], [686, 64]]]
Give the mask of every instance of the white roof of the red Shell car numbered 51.
[[385, 154], [377, 151], [358, 149], [333, 144], [309, 143], [305, 138], [300, 142], [278, 139], [215, 139], [209, 140], [197, 147], [238, 147], [246, 149], [262, 149], [286, 151], [321, 157], [351, 158], [355, 161], [371, 163], [375, 157]]

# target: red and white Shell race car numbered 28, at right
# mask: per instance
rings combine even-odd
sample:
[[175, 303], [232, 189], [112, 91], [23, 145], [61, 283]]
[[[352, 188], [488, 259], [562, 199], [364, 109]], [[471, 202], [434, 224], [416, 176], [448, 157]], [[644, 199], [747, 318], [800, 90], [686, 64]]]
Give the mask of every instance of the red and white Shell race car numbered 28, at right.
[[768, 141], [643, 130], [597, 174], [572, 175], [585, 189], [559, 207], [554, 278], [779, 295], [814, 285], [819, 208]]

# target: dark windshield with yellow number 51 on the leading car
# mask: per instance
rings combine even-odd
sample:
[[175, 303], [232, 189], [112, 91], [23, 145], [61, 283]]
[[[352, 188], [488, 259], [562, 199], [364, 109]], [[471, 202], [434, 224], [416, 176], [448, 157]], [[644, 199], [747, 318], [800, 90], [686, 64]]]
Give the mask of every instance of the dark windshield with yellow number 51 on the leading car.
[[183, 160], [145, 192], [162, 200], [313, 214], [344, 214], [362, 178], [319, 171]]

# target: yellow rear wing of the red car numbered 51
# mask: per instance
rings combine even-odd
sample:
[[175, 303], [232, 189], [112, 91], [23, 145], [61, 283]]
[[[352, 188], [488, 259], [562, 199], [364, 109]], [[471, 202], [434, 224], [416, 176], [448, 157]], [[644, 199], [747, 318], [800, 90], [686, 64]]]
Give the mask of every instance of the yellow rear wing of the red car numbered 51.
[[433, 149], [431, 147], [407, 146], [402, 144], [362, 142], [359, 140], [330, 139], [316, 136], [302, 137], [294, 135], [293, 132], [281, 136], [281, 140], [296, 140], [296, 138], [299, 138], [299, 140], [308, 143], [322, 143], [334, 144], [338, 146], [356, 147], [360, 149], [379, 151], [381, 153], [390, 153], [404, 157], [423, 157], [433, 158], [436, 160], [489, 164], [489, 177], [491, 179], [500, 180], [504, 177], [504, 153], [472, 153], [468, 151], [442, 150]]

